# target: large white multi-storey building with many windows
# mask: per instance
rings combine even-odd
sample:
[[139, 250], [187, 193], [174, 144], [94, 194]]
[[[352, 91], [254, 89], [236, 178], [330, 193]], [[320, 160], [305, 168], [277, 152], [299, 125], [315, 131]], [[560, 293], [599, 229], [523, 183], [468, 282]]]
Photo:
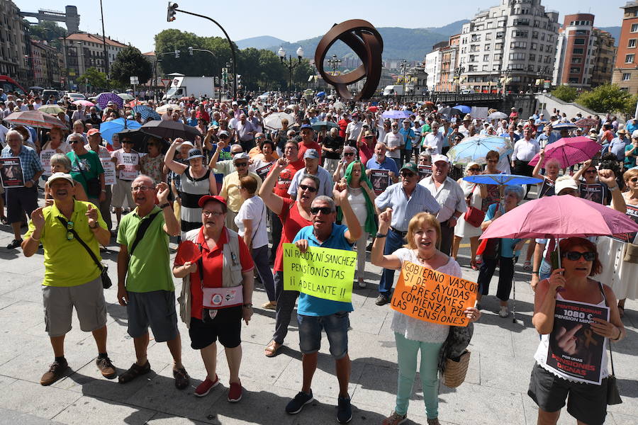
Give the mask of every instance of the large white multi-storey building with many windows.
[[558, 12], [540, 0], [500, 0], [461, 30], [461, 86], [490, 93], [528, 91], [552, 75]]

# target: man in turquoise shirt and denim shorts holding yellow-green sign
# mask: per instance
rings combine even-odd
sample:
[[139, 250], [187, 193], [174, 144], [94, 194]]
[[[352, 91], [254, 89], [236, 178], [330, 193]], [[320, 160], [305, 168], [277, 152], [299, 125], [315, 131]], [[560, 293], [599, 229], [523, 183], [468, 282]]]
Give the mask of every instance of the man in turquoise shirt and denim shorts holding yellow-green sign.
[[[362, 234], [361, 225], [348, 202], [347, 185], [336, 183], [333, 191], [335, 200], [328, 196], [317, 196], [310, 206], [310, 217], [313, 225], [299, 230], [293, 244], [302, 252], [308, 246], [322, 248], [352, 250], [352, 244]], [[349, 227], [337, 225], [337, 208], [340, 205], [344, 222]], [[286, 273], [286, 271], [284, 271]], [[352, 311], [352, 303], [323, 300], [305, 293], [299, 294], [297, 321], [299, 324], [299, 348], [302, 353], [303, 384], [301, 391], [288, 403], [286, 412], [297, 414], [303, 406], [313, 401], [313, 390], [310, 385], [317, 368], [318, 351], [321, 343], [321, 329], [325, 329], [330, 341], [330, 353], [335, 358], [337, 380], [339, 380], [339, 398], [337, 421], [345, 424], [352, 419], [352, 408], [348, 395], [350, 378], [350, 358], [348, 356], [348, 312]]]

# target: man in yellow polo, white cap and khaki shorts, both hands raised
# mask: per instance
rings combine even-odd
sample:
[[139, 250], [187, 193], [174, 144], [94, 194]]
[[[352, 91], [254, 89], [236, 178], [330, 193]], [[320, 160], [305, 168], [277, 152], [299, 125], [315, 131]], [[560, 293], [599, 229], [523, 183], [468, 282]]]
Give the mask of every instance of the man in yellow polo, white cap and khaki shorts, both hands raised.
[[51, 385], [69, 368], [65, 358], [65, 335], [71, 330], [73, 308], [80, 329], [93, 332], [99, 370], [105, 378], [115, 378], [116, 370], [106, 353], [106, 302], [100, 269], [89, 251], [74, 240], [82, 239], [100, 261], [99, 244], [108, 244], [111, 233], [95, 205], [74, 200], [74, 180], [69, 174], [52, 174], [47, 183], [53, 204], [31, 213], [29, 229], [22, 242], [27, 257], [38, 251], [38, 244], [44, 247], [45, 329], [55, 361], [40, 379], [40, 384]]

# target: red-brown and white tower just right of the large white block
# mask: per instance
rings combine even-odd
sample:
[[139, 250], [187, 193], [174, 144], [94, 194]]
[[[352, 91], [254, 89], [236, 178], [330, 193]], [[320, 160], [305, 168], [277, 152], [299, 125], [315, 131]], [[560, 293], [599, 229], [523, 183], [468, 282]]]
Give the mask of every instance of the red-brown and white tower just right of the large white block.
[[591, 13], [566, 15], [556, 45], [556, 66], [552, 84], [566, 84], [578, 89], [591, 87], [596, 51], [594, 16]]

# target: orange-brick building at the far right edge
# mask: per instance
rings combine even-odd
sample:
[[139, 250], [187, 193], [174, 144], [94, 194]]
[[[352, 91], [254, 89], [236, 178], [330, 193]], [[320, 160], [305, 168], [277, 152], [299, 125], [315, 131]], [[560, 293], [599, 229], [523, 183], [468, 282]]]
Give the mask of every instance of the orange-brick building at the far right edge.
[[629, 94], [638, 94], [638, 1], [629, 1], [621, 9], [622, 27], [612, 84]]

